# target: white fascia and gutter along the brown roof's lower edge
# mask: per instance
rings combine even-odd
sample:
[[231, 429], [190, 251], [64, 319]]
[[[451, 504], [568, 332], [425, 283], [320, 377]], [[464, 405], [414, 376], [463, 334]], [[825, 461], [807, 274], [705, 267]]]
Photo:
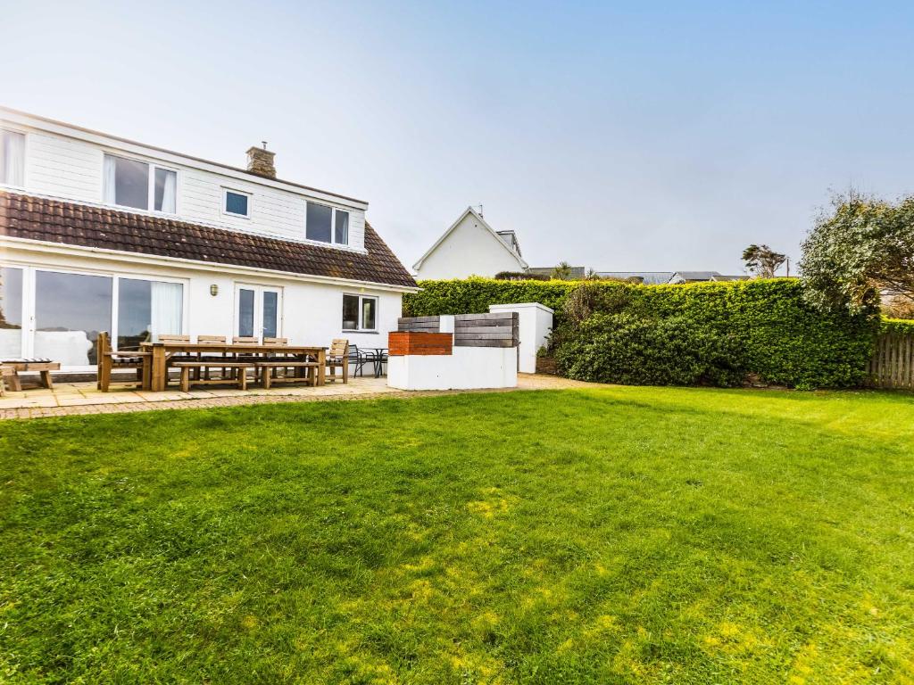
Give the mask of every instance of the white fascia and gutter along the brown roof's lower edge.
[[258, 269], [257, 267], [242, 267], [237, 264], [222, 264], [218, 262], [201, 262], [195, 259], [175, 257], [161, 257], [147, 255], [142, 252], [122, 252], [115, 249], [88, 248], [67, 243], [48, 243], [43, 240], [31, 240], [22, 237], [0, 236], [0, 247], [8, 249], [21, 249], [28, 252], [38, 252], [53, 255], [77, 257], [95, 256], [122, 262], [124, 264], [147, 264], [155, 267], [183, 268], [194, 271], [207, 271], [225, 274], [230, 272], [239, 275], [260, 276], [273, 279], [300, 280], [308, 283], [322, 285], [339, 285], [346, 288], [371, 288], [372, 290], [388, 290], [391, 292], [419, 292], [421, 289], [412, 286], [398, 286], [390, 283], [376, 283], [371, 280], [335, 279], [330, 276], [317, 276], [314, 274], [301, 274], [293, 271], [279, 271], [275, 269]]

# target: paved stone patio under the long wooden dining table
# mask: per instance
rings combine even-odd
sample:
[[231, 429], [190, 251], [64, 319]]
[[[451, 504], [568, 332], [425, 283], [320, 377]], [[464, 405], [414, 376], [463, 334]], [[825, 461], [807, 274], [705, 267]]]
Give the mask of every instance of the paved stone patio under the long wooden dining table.
[[[557, 376], [518, 374], [517, 390], [543, 390], [584, 387], [592, 384], [569, 381]], [[384, 396], [414, 397], [420, 395], [452, 395], [462, 392], [512, 392], [443, 390], [409, 392], [388, 387], [387, 378], [350, 378], [349, 383], [328, 383], [321, 387], [286, 386], [270, 390], [250, 388], [212, 388], [182, 393], [167, 390], [150, 393], [129, 385], [112, 385], [102, 393], [95, 382], [56, 383], [53, 390], [35, 388], [22, 392], [7, 391], [0, 397], [0, 419], [72, 416], [83, 414], [117, 414], [149, 411], [151, 409], [193, 409], [216, 406], [258, 405], [280, 402], [315, 402], [321, 400], [370, 399]]]

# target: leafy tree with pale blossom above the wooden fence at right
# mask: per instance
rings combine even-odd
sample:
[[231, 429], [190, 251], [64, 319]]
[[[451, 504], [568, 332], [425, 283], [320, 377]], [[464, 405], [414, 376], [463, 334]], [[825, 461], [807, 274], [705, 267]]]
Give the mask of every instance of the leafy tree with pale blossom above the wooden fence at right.
[[802, 244], [800, 270], [807, 297], [823, 309], [865, 311], [880, 291], [914, 302], [914, 196], [836, 196]]

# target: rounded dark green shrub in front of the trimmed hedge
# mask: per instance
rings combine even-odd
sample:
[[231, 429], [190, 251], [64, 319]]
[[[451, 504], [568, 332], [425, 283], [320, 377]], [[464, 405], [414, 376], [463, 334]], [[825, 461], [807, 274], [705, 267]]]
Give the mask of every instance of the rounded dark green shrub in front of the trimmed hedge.
[[739, 341], [683, 316], [590, 316], [556, 353], [569, 378], [622, 385], [740, 385]]

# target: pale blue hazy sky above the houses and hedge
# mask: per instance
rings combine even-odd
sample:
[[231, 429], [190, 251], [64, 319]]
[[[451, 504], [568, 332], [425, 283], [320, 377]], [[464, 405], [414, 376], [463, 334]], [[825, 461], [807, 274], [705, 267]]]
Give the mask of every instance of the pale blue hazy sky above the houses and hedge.
[[[124, 4], [126, 5], [126, 4]], [[799, 257], [914, 191], [909, 3], [3, 2], [0, 103], [370, 202], [408, 265], [466, 205], [535, 266]]]

